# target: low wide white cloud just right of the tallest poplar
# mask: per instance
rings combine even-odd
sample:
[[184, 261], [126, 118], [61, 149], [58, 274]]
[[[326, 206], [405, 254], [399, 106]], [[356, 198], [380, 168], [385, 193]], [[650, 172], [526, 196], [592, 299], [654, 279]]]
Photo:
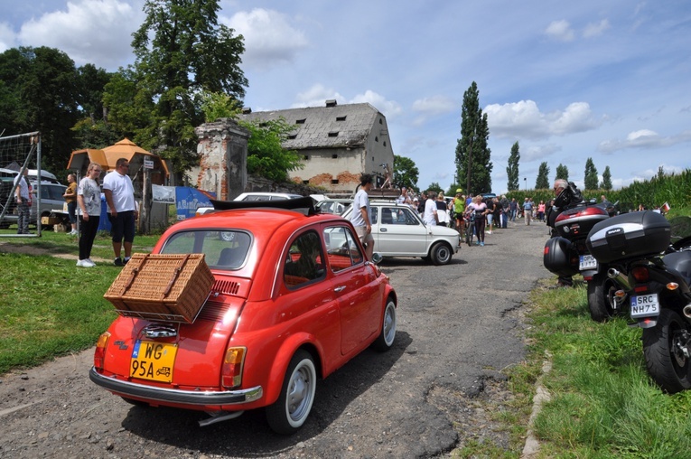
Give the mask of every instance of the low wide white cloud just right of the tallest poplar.
[[498, 137], [544, 139], [591, 130], [602, 124], [587, 102], [574, 102], [565, 110], [542, 113], [533, 100], [485, 108], [490, 134]]

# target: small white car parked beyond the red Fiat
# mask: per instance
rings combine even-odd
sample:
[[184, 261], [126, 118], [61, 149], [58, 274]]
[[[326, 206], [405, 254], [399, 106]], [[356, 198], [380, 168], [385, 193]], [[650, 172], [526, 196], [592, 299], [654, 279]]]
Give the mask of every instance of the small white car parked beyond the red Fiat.
[[[458, 252], [458, 231], [443, 226], [426, 226], [417, 212], [395, 201], [370, 201], [374, 250], [384, 257], [421, 257], [434, 265], [446, 265]], [[343, 213], [350, 219], [353, 209]]]

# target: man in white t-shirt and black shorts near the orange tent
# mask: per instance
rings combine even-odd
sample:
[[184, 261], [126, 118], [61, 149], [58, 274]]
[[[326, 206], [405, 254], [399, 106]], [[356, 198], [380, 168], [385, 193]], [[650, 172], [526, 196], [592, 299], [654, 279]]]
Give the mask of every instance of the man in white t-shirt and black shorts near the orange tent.
[[[135, 220], [137, 218], [135, 187], [127, 175], [129, 161], [126, 158], [117, 160], [115, 172], [108, 173], [103, 179], [103, 192], [113, 233], [113, 252], [117, 267], [124, 267], [132, 255], [132, 242], [135, 240]], [[123, 243], [124, 241], [124, 243]], [[125, 247], [125, 258], [120, 252]]]

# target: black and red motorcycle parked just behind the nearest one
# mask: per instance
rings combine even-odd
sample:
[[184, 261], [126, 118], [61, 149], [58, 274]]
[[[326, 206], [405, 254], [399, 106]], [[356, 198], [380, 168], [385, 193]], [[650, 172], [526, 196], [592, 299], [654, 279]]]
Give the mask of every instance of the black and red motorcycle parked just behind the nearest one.
[[588, 288], [588, 309], [591, 318], [603, 322], [621, 314], [625, 298], [614, 293], [619, 290], [607, 276], [609, 265], [593, 258], [585, 240], [593, 226], [617, 213], [617, 203], [582, 201], [559, 213], [550, 226], [556, 237], [547, 240], [543, 264], [557, 276], [581, 274]]

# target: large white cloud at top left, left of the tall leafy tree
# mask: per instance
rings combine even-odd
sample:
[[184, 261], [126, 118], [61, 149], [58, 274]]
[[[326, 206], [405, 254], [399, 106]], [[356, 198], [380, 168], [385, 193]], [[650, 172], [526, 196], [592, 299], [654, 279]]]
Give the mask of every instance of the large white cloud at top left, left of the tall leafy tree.
[[116, 70], [133, 60], [132, 33], [143, 18], [131, 5], [117, 0], [68, 2], [67, 11], [23, 23], [17, 42], [57, 48], [77, 65], [93, 63]]

